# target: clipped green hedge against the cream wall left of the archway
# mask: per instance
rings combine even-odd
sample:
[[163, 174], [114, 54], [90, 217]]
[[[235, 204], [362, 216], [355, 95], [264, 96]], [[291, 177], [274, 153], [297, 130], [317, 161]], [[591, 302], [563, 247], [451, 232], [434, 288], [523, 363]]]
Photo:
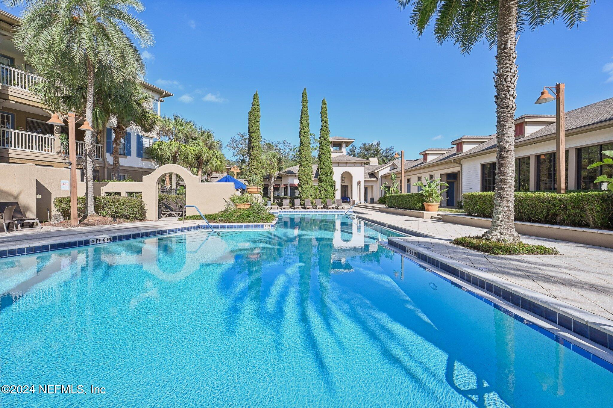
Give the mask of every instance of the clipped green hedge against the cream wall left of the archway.
[[[56, 197], [53, 204], [64, 219], [70, 218], [70, 197]], [[116, 217], [130, 221], [144, 220], [147, 214], [142, 199], [121, 196], [96, 196], [94, 209], [96, 214], [102, 217]], [[78, 197], [77, 216], [80, 218], [83, 214], [85, 214], [85, 197]]]

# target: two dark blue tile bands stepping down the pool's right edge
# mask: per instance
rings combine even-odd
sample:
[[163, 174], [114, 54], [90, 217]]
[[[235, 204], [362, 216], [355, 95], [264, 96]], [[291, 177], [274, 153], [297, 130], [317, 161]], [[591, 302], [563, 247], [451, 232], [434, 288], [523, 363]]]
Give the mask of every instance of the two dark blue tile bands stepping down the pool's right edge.
[[[370, 222], [370, 221], [367, 221], [367, 222]], [[416, 253], [417, 256], [415, 257], [417, 259], [424, 261], [425, 263], [430, 264], [432, 266], [435, 266], [436, 268], [441, 269], [449, 274], [452, 274], [455, 277], [464, 280], [465, 282], [471, 283], [475, 285], [476, 287], [479, 287], [482, 290], [487, 291], [489, 294], [493, 295], [495, 298], [499, 298], [499, 299], [503, 299], [505, 301], [511, 302], [511, 304], [513, 304], [516, 307], [519, 307], [524, 312], [528, 312], [530, 314], [543, 317], [545, 320], [548, 320], [554, 323], [555, 325], [562, 326], [563, 328], [566, 328], [569, 331], [572, 331], [573, 334], [576, 334], [576, 336], [584, 337], [585, 339], [593, 341], [596, 344], [600, 344], [601, 346], [607, 348], [608, 350], [613, 350], [612, 348], [613, 347], [613, 336], [611, 336], [610, 334], [604, 333], [604, 331], [593, 328], [592, 326], [588, 326], [581, 321], [574, 320], [574, 318], [572, 317], [566, 316], [560, 312], [556, 312], [555, 310], [549, 309], [548, 307], [545, 307], [541, 304], [533, 302], [530, 299], [524, 298], [515, 293], [511, 293], [511, 291], [509, 290], [498, 287], [497, 285], [493, 285], [493, 283], [486, 282], [483, 279], [479, 279], [479, 277], [471, 275], [468, 272], [464, 272], [460, 269], [454, 268], [453, 266], [448, 265], [444, 262], [435, 260], [434, 258], [431, 258], [430, 256], [427, 256], [426, 254], [421, 253], [417, 250], [407, 248], [405, 245], [399, 244], [398, 242], [388, 241], [387, 243], [391, 247], [394, 247], [400, 250], [401, 251], [400, 255], [404, 255], [406, 253], [405, 256], [407, 256], [409, 260], [411, 260], [410, 256], [415, 256], [415, 253]], [[487, 298], [484, 298], [484, 296], [481, 296], [480, 294], [471, 290], [470, 287], [465, 287], [463, 285], [460, 285], [454, 280], [451, 280], [445, 277], [444, 275], [441, 275], [440, 273], [433, 271], [432, 269], [425, 268], [424, 266], [422, 266], [422, 268], [424, 268], [426, 271], [432, 274], [435, 274], [436, 276], [440, 277], [446, 282], [451, 283], [452, 285], [454, 285], [454, 287], [460, 288], [461, 290], [470, 293], [475, 298], [489, 304], [490, 306], [494, 307], [497, 310], [500, 310], [501, 312], [503, 312], [506, 315], [509, 315], [515, 320], [520, 321], [521, 323], [524, 323], [524, 325], [530, 327], [531, 329], [536, 330], [538, 333], [541, 333], [544, 336], [547, 336], [550, 339], [554, 340], [555, 342], [562, 344], [564, 347], [568, 348], [569, 350], [572, 350], [573, 352], [576, 352], [577, 354], [584, 356], [588, 360], [592, 361], [593, 363], [598, 364], [599, 366], [603, 367], [607, 371], [613, 372], [613, 363], [610, 363], [609, 361], [606, 361], [603, 358], [593, 353], [588, 352], [587, 350], [585, 350], [585, 348], [582, 348], [581, 346], [574, 344], [573, 342], [568, 341], [564, 339], [563, 337], [558, 336], [555, 333], [550, 332], [546, 328], [543, 328], [542, 326], [539, 325], [538, 320], [537, 321], [527, 320], [526, 318], [512, 312], [512, 310], [506, 309], [506, 307], [501, 306], [500, 304], [496, 302], [492, 302]], [[514, 298], [514, 296], [517, 296], [517, 298]], [[528, 306], [530, 306], [530, 309], [528, 309]], [[547, 314], [549, 314], [549, 317], [547, 317]], [[565, 320], [564, 322], [565, 324], [558, 323], [558, 321], [560, 321], [560, 316], [563, 317], [562, 320]], [[566, 321], [566, 319], [568, 319], [568, 321]], [[577, 329], [579, 328], [579, 325], [581, 325], [581, 329]], [[588, 330], [587, 333], [585, 332], [586, 328]], [[596, 333], [596, 332], [600, 332], [600, 333]], [[604, 339], [605, 344], [603, 344], [603, 342], [600, 342], [600, 341], [595, 341], [597, 335], [600, 336], [601, 341], [603, 341]]]

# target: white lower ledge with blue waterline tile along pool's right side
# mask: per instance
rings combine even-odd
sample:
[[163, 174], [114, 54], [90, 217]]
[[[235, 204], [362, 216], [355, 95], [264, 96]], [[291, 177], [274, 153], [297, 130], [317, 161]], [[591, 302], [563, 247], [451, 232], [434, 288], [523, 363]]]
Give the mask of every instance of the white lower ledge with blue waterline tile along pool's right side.
[[[522, 309], [511, 302], [507, 302], [504, 299], [497, 298], [492, 293], [489, 293], [482, 289], [481, 287], [474, 285], [473, 283], [469, 283], [470, 286], [466, 285], [466, 281], [460, 279], [455, 275], [449, 274], [449, 272], [444, 271], [443, 269], [433, 267], [432, 264], [427, 263], [426, 261], [422, 261], [419, 258], [414, 258], [414, 256], [409, 255], [409, 253], [399, 252], [397, 248], [392, 247], [385, 241], [379, 241], [379, 245], [392, 250], [400, 256], [404, 256], [409, 261], [412, 261], [426, 271], [440, 277], [446, 282], [451, 283], [455, 287], [468, 292], [475, 298], [489, 304], [493, 308], [503, 312], [506, 315], [514, 318], [520, 323], [534, 329], [540, 334], [543, 334], [549, 339], [554, 340], [555, 342], [562, 344], [564, 347], [569, 350], [576, 352], [577, 354], [587, 358], [593, 363], [598, 364], [602, 368], [606, 369], [609, 372], [613, 372], [613, 353], [611, 350], [608, 350], [604, 347], [601, 347], [597, 344], [593, 344], [593, 342], [585, 339], [584, 337], [577, 336], [573, 331], [569, 331], [563, 326], [559, 326], [554, 324], [552, 321], [548, 321], [544, 318], [539, 317], [538, 315], [532, 314], [525, 309]], [[587, 348], [587, 350], [586, 350]], [[591, 350], [591, 351], [590, 351]]]

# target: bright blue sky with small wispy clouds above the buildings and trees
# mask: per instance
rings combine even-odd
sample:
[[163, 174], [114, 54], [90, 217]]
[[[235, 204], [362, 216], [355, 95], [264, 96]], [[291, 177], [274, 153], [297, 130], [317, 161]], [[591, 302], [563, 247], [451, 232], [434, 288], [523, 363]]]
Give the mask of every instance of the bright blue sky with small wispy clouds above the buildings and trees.
[[[554, 114], [554, 103], [533, 102], [556, 82], [566, 83], [567, 109], [613, 96], [611, 3], [593, 4], [579, 28], [558, 21], [520, 35], [517, 116]], [[418, 39], [394, 0], [171, 4], [145, 1], [140, 15], [156, 40], [143, 54], [147, 80], [175, 94], [163, 114], [191, 118], [224, 144], [246, 131], [256, 90], [262, 136], [297, 144], [304, 87], [311, 132], [325, 97], [333, 135], [381, 140], [408, 157], [495, 131], [493, 50], [462, 55], [431, 33]]]

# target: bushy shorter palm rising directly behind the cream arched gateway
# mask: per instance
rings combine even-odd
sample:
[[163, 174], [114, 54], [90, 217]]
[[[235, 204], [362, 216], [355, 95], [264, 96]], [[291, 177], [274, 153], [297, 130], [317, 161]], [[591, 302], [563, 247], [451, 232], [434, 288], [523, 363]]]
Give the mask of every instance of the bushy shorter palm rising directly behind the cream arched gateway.
[[[191, 167], [196, 156], [192, 139], [196, 134], [196, 124], [182, 117], [163, 116], [159, 121], [159, 140], [147, 148], [147, 152], [158, 164], [180, 164]], [[167, 183], [168, 184], [168, 183]], [[172, 189], [177, 188], [177, 174], [172, 174]]]

